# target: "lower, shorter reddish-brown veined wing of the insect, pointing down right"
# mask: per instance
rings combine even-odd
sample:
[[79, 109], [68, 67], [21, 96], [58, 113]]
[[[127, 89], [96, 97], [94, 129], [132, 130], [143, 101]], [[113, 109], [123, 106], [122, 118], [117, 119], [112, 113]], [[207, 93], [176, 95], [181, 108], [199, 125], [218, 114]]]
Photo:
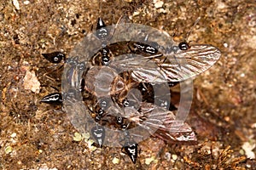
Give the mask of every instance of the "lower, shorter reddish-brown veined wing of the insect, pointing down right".
[[[133, 115], [126, 115], [126, 118], [131, 122], [136, 122], [139, 127], [146, 129], [151, 135], [166, 140], [166, 142], [197, 140], [195, 133], [187, 123], [175, 126], [173, 112], [153, 104], [142, 102], [140, 110], [133, 112]], [[136, 134], [136, 131], [133, 131], [131, 135], [141, 134]]]

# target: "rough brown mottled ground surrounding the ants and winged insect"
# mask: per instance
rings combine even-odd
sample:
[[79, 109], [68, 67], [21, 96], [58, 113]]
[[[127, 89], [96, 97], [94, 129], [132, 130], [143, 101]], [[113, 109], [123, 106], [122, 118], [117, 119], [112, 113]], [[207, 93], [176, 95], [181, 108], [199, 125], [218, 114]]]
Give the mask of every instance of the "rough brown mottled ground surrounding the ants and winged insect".
[[[1, 1], [0, 11], [0, 169], [256, 167], [254, 1], [9, 0]], [[61, 107], [38, 102], [55, 92], [49, 86], [61, 89], [61, 73], [49, 78], [45, 73], [55, 65], [41, 54], [56, 50], [68, 54], [99, 16], [112, 24], [124, 14], [134, 23], [175, 33], [177, 41], [201, 17], [189, 41], [209, 43], [222, 52], [218, 63], [195, 79], [188, 122], [198, 143], [147, 139], [140, 144], [136, 165], [120, 148], [92, 149], [87, 139], [78, 139]], [[25, 76], [33, 71], [40, 90], [25, 86]]]

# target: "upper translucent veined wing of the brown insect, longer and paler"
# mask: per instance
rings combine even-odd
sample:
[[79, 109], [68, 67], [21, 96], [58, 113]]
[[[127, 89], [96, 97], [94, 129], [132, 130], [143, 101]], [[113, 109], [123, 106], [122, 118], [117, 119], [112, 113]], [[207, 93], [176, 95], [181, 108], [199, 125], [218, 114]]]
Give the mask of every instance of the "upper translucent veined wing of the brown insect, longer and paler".
[[211, 45], [192, 45], [188, 50], [178, 49], [162, 56], [126, 54], [113, 59], [109, 66], [130, 70], [138, 82], [181, 82], [207, 71], [220, 55], [218, 48]]

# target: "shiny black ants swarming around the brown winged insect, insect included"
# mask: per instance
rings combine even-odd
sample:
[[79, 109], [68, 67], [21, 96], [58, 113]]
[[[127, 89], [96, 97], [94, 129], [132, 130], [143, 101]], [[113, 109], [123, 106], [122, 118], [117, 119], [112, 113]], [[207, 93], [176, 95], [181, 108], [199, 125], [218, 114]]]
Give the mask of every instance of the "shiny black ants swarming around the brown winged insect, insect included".
[[[108, 44], [112, 33], [99, 18], [95, 36], [102, 42], [102, 48], [88, 60], [89, 68], [81, 66], [84, 73], [79, 82], [79, 92], [90, 116], [96, 122], [96, 126], [90, 128], [96, 144], [102, 147], [107, 140], [106, 127], [119, 129], [122, 132], [122, 138], [119, 139], [122, 151], [136, 163], [138, 144], [135, 139], [141, 134], [130, 133], [129, 129], [132, 127], [141, 127], [143, 132], [149, 131], [150, 135], [166, 142], [195, 141], [195, 133], [187, 123], [183, 123], [177, 132], [170, 130], [177, 108], [170, 104], [168, 95], [155, 96], [154, 92], [162, 88], [163, 82], [172, 87], [206, 71], [220, 57], [218, 48], [207, 44], [190, 45], [186, 41], [164, 48], [158, 42], [148, 41], [150, 35], [145, 35], [142, 42], [131, 40]], [[116, 56], [122, 54], [125, 54], [124, 58], [115, 60]], [[140, 58], [133, 54], [139, 54]], [[67, 58], [61, 52], [43, 56], [54, 64], [61, 64], [64, 60], [66, 64], [73, 61], [78, 65], [76, 59]], [[170, 58], [177, 63], [170, 62]], [[187, 65], [178, 64], [182, 58], [187, 59]], [[157, 71], [150, 68], [148, 60], [158, 65]], [[122, 67], [120, 65], [131, 66], [134, 70], [119, 73], [117, 70]], [[186, 74], [182, 74], [183, 72]], [[158, 74], [164, 75], [165, 79], [155, 78], [159, 77]], [[111, 86], [96, 81], [108, 82]], [[53, 93], [45, 96], [41, 102], [62, 105], [63, 100], [63, 94]]]

